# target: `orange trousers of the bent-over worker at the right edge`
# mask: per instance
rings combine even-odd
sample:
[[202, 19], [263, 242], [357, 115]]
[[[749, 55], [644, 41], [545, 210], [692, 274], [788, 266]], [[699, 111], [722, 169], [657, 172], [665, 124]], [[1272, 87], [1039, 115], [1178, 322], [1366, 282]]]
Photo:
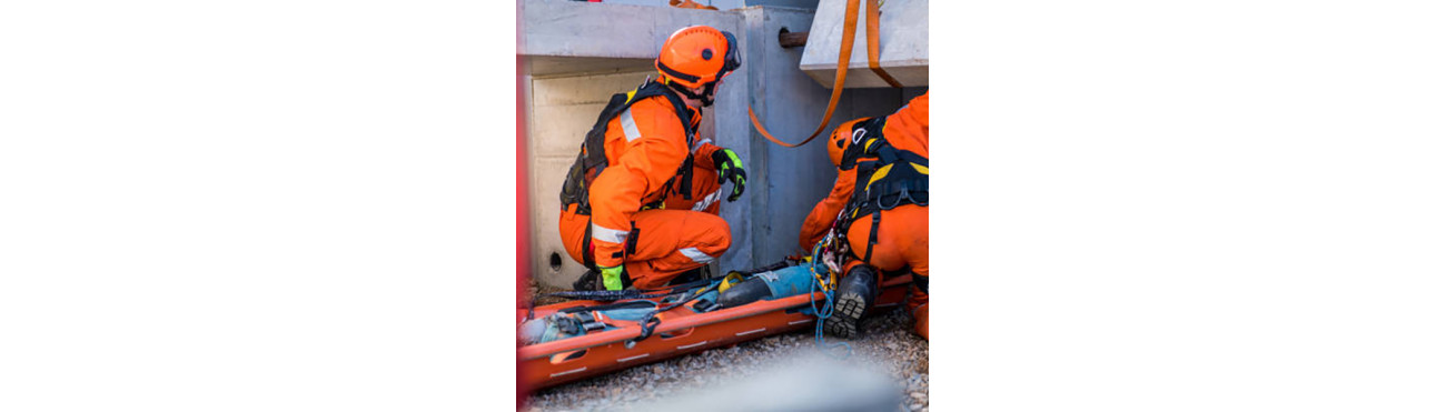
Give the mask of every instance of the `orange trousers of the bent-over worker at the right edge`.
[[[869, 247], [869, 226], [872, 224], [872, 215], [866, 215], [849, 226], [849, 249], [853, 249], [853, 253], [860, 257]], [[852, 265], [850, 262], [844, 266], [844, 273]], [[882, 211], [879, 215], [879, 243], [873, 244], [869, 266], [882, 269], [879, 273], [908, 266], [911, 272], [928, 278], [928, 207], [899, 205]], [[924, 304], [928, 304], [928, 295], [911, 286], [908, 309], [914, 311]]]

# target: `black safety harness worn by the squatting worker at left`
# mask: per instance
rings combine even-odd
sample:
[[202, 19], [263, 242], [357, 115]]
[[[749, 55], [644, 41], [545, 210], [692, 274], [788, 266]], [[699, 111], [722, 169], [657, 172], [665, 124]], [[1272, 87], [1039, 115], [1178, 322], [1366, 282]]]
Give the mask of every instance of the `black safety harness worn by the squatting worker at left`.
[[[567, 181], [562, 182], [562, 191], [561, 194], [558, 194], [564, 211], [576, 204], [577, 205], [576, 213], [589, 217], [587, 233], [583, 236], [583, 260], [584, 260], [583, 265], [586, 265], [590, 269], [597, 269], [597, 265], [593, 262], [593, 253], [591, 253], [593, 207], [589, 202], [589, 189], [593, 186], [593, 181], [597, 179], [597, 176], [603, 173], [603, 169], [609, 166], [607, 153], [603, 149], [603, 143], [606, 142], [606, 134], [607, 134], [607, 121], [612, 121], [613, 117], [617, 117], [619, 114], [623, 113], [623, 110], [628, 110], [638, 101], [643, 101], [654, 95], [662, 95], [668, 98], [668, 103], [672, 104], [672, 111], [678, 116], [678, 120], [683, 121], [683, 130], [684, 133], [687, 133], [688, 147], [694, 146], [693, 140], [694, 136], [697, 134], [697, 130], [693, 126], [694, 124], [693, 110], [690, 110], [688, 106], [683, 103], [683, 98], [678, 98], [678, 95], [672, 94], [672, 91], [669, 91], [667, 85], [662, 85], [655, 81], [645, 81], [642, 85], [629, 93], [613, 94], [613, 97], [607, 101], [607, 107], [603, 108], [603, 113], [597, 114], [597, 123], [593, 123], [593, 129], [589, 130], [587, 137], [583, 139], [583, 145], [578, 149], [577, 159], [573, 160], [573, 166], [567, 171]], [[683, 176], [681, 179], [677, 179], [680, 181], [678, 182], [680, 186], [677, 188], [677, 191], [683, 194], [684, 199], [693, 199], [691, 155], [684, 158], [683, 165], [678, 166], [677, 175]], [[662, 197], [659, 197], [658, 201], [646, 204], [642, 208], [643, 210], [661, 208], [662, 201], [667, 199], [668, 195], [674, 191], [672, 186], [674, 181], [675, 179], [668, 179], [668, 182], [661, 188]], [[632, 227], [628, 233], [625, 253], [632, 253], [632, 250], [636, 249], [636, 244], [638, 244], [638, 228]]]

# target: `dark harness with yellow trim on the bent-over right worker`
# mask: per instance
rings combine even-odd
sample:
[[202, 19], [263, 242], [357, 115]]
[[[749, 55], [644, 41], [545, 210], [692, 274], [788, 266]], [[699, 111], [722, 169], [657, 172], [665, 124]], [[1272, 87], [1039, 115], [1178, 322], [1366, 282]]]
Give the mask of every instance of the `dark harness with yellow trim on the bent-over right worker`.
[[899, 205], [928, 205], [928, 158], [902, 150], [884, 139], [888, 117], [873, 117], [853, 126], [852, 143], [843, 150], [839, 169], [859, 168], [853, 197], [840, 214], [839, 236], [849, 233], [855, 220], [872, 215], [869, 246], [863, 262], [873, 257], [879, 241], [879, 217]]

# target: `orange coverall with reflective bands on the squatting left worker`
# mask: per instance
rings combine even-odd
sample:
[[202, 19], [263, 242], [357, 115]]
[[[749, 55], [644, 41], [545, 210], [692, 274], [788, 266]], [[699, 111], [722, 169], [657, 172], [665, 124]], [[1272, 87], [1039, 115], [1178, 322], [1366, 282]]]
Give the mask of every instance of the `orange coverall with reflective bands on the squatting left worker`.
[[[701, 116], [693, 107], [688, 110], [696, 130]], [[584, 250], [589, 215], [577, 214], [571, 205], [558, 220], [562, 246], [573, 260], [581, 263], [583, 253], [593, 253], [597, 267], [625, 265], [633, 286], [646, 289], [664, 286], [727, 252], [732, 233], [717, 215], [722, 185], [713, 165], [713, 152], [720, 147], [709, 142], [688, 147], [683, 124], [662, 95], [638, 101], [609, 120], [604, 136], [609, 166], [589, 188], [593, 250]], [[674, 181], [674, 191], [681, 186], [678, 166], [687, 156], [694, 162], [693, 199], [671, 194], [664, 208], [639, 211], [665, 195], [662, 188], [668, 181]], [[623, 253], [633, 228], [636, 247]]]

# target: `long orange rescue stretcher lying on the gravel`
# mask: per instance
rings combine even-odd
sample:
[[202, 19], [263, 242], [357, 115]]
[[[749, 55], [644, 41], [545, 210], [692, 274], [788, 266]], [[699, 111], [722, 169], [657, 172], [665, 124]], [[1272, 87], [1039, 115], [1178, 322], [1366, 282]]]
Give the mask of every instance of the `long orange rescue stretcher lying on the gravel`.
[[[613, 302], [570, 301], [536, 306], [531, 309], [531, 314], [529, 309], [519, 309], [518, 360], [522, 376], [519, 385], [536, 390], [810, 327], [817, 321], [814, 308], [826, 299], [824, 292], [811, 288], [798, 291], [795, 286], [792, 291], [777, 293], [782, 296], [771, 295], [749, 304], [724, 308], [719, 308], [717, 299], [693, 299], [707, 293], [710, 288], [717, 289], [720, 283], [736, 285], [759, 279], [755, 280], [758, 283], [778, 280], [781, 275], [808, 273], [807, 267], [811, 266], [805, 262], [803, 266], [800, 263], [798, 260], [785, 260], [777, 265], [781, 267], [775, 266], [775, 270], [733, 272], [729, 278], [704, 282], [697, 288], [665, 296]], [[910, 276], [885, 279], [879, 288], [879, 296], [875, 299], [875, 311], [904, 302], [910, 282]], [[680, 301], [683, 302], [680, 304]], [[622, 315], [629, 311], [633, 315], [648, 312], [649, 308], [652, 308], [651, 318], [654, 321]], [[551, 315], [583, 319], [586, 325], [574, 324], [576, 332], [573, 335], [549, 341], [526, 343], [521, 338], [521, 331], [528, 322], [551, 319]], [[646, 325], [652, 325], [652, 328], [645, 332]]]

